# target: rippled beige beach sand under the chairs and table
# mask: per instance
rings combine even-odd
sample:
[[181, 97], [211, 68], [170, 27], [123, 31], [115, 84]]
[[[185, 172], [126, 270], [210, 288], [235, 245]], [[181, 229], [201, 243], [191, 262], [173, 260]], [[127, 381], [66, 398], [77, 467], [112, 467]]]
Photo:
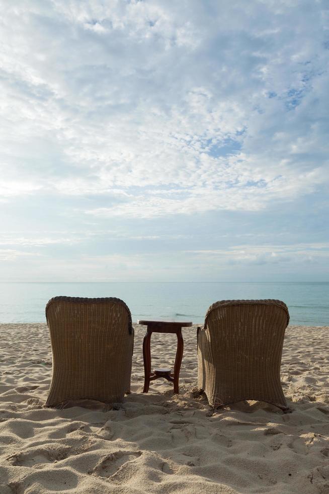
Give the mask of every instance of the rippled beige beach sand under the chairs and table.
[[[329, 328], [290, 326], [284, 414], [259, 402], [211, 411], [191, 392], [196, 327], [183, 330], [180, 395], [143, 389], [134, 325], [132, 393], [114, 408], [43, 408], [51, 378], [45, 324], [0, 325], [0, 494], [43, 492], [329, 493]], [[171, 366], [175, 335], [153, 334], [152, 365]]]

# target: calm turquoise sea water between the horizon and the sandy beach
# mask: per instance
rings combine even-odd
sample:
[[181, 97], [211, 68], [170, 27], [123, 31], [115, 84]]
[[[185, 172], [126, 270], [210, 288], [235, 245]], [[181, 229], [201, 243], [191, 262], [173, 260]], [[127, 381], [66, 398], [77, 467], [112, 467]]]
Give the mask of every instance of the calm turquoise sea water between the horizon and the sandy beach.
[[216, 300], [278, 298], [288, 305], [291, 324], [329, 326], [329, 282], [0, 282], [0, 322], [45, 322], [45, 305], [56, 295], [122, 298], [134, 322], [193, 323], [202, 323]]

